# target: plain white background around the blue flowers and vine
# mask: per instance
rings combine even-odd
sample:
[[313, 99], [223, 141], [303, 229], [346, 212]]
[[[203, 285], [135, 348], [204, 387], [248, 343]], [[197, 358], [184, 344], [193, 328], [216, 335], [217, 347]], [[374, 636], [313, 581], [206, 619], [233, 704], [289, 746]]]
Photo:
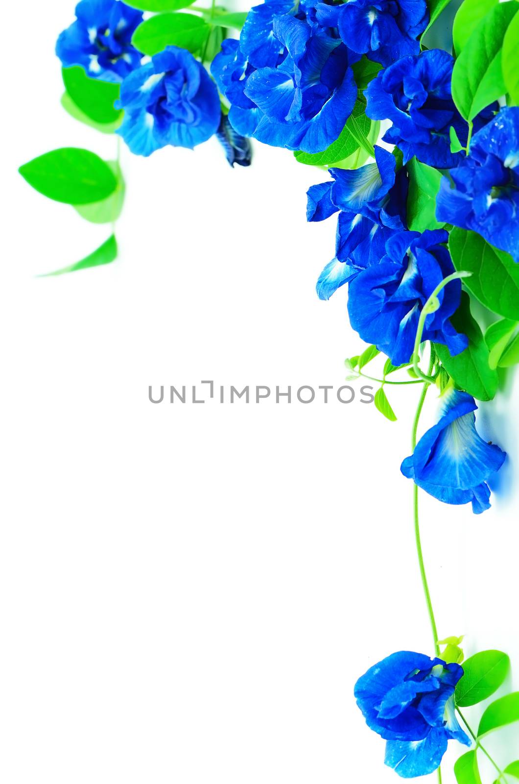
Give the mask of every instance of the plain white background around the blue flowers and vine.
[[[69, 145], [111, 158], [116, 141], [60, 107], [53, 42], [71, 2], [4, 13], [2, 782], [396, 782], [352, 691], [390, 652], [430, 653], [399, 470], [419, 388], [390, 390], [397, 423], [357, 401], [147, 397], [201, 379], [344, 383], [362, 348], [346, 291], [314, 293], [335, 222], [305, 221], [324, 172], [259, 144], [237, 170], [214, 140], [124, 151], [119, 260], [35, 278], [109, 229], [17, 167]], [[478, 425], [510, 454], [507, 485], [513, 401], [482, 406]], [[517, 490], [480, 517], [425, 495], [421, 508], [441, 636], [519, 670]], [[488, 746], [516, 759], [517, 729]], [[445, 782], [462, 751], [451, 743]]]

